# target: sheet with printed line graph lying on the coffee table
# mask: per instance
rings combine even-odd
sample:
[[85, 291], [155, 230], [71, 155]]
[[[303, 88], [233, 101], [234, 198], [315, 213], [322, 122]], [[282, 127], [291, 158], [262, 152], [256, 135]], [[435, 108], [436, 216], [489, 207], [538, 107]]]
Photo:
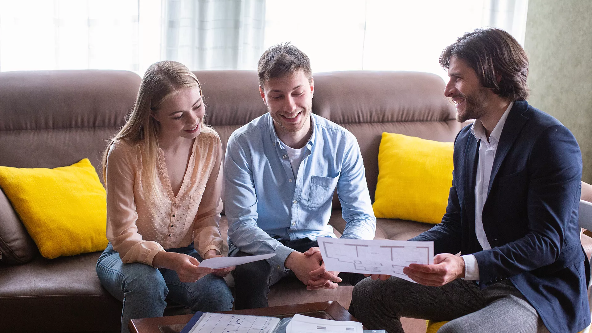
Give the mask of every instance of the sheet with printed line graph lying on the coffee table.
[[189, 333], [272, 333], [278, 323], [272, 317], [206, 312]]

